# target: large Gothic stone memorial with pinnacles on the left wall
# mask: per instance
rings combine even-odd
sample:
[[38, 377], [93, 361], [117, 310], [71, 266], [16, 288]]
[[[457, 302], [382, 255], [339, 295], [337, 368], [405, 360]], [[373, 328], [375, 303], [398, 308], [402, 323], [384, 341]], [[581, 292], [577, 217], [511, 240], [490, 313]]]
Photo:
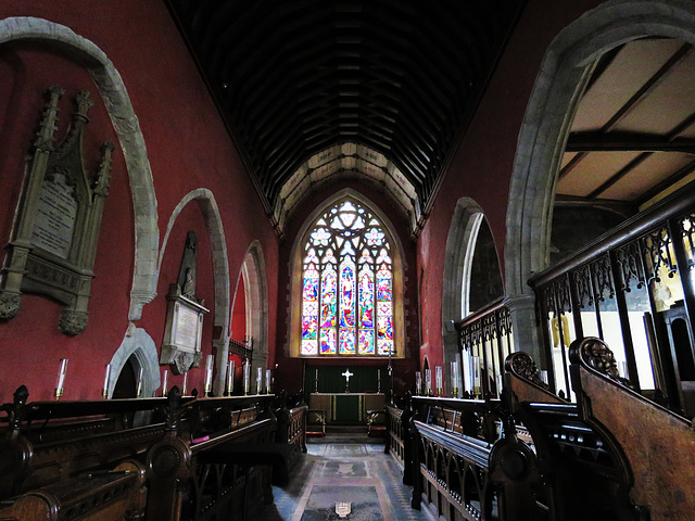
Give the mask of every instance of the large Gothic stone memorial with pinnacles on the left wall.
[[74, 335], [87, 328], [92, 268], [114, 145], [104, 143], [97, 174], [88, 175], [83, 134], [92, 102], [87, 91], [75, 96], [70, 130], [60, 145], [55, 144], [58, 104], [63, 93], [56, 86], [48, 90], [49, 101], [34, 141], [16, 223], [5, 246], [0, 274], [0, 319], [20, 314], [23, 293], [48, 295], [65, 306], [59, 326], [64, 334]]

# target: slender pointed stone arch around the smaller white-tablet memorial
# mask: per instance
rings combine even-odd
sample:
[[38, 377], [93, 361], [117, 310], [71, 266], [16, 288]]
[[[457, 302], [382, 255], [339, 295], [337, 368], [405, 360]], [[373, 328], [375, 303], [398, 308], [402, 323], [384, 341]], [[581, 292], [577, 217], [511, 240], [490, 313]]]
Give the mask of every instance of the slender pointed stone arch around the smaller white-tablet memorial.
[[[166, 251], [166, 244], [168, 242], [172, 228], [174, 228], [174, 223], [176, 223], [176, 218], [184, 207], [191, 201], [195, 201], [203, 218], [205, 219], [205, 227], [207, 228], [207, 236], [210, 237], [210, 245], [212, 250], [215, 287], [215, 313], [213, 316], [213, 327], [216, 331], [220, 331], [220, 336], [218, 339], [213, 339], [213, 345], [217, 352], [217, 356], [215, 357], [215, 364], [217, 367], [215, 371], [216, 379], [214, 385], [215, 390], [218, 391], [222, 389], [225, 381], [225, 368], [229, 343], [229, 259], [227, 256], [227, 242], [225, 240], [225, 230], [222, 224], [219, 208], [217, 207], [217, 202], [215, 201], [213, 192], [206, 188], [198, 188], [188, 192], [176, 205], [174, 212], [172, 212], [172, 216], [169, 217], [169, 221], [166, 226], [166, 233], [162, 241], [160, 257], [156, 263], [156, 277], [159, 278], [164, 252]], [[219, 385], [219, 387], [217, 387], [217, 385]]]

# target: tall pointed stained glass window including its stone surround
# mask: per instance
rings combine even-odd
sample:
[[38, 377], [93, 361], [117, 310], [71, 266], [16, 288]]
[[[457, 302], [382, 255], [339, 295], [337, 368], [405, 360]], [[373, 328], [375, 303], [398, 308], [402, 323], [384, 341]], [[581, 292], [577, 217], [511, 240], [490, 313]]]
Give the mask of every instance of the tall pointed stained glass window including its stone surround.
[[291, 356], [404, 356], [402, 246], [362, 194], [342, 190], [307, 217], [291, 275]]

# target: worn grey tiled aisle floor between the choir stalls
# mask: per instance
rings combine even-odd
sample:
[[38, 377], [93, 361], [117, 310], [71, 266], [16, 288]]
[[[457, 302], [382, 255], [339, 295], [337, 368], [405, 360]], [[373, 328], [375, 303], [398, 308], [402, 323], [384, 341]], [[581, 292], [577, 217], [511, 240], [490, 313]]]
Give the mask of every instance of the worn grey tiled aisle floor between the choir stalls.
[[[307, 454], [286, 486], [274, 486], [275, 505], [264, 507], [263, 521], [429, 521], [410, 508], [412, 490], [383, 444], [369, 439], [327, 436], [309, 441]], [[340, 518], [336, 504], [350, 504]]]

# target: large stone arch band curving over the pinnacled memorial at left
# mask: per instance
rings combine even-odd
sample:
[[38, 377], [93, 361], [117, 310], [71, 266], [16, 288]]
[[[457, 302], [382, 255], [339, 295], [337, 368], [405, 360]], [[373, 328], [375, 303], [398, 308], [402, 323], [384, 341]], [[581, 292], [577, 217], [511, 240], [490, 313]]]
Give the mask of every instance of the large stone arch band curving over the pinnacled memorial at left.
[[12, 40], [42, 40], [68, 49], [89, 71], [123, 150], [135, 211], [135, 269], [129, 320], [156, 295], [155, 263], [159, 246], [156, 198], [144, 138], [121, 75], [93, 42], [64, 25], [43, 18], [17, 16], [0, 21], [0, 45]]

